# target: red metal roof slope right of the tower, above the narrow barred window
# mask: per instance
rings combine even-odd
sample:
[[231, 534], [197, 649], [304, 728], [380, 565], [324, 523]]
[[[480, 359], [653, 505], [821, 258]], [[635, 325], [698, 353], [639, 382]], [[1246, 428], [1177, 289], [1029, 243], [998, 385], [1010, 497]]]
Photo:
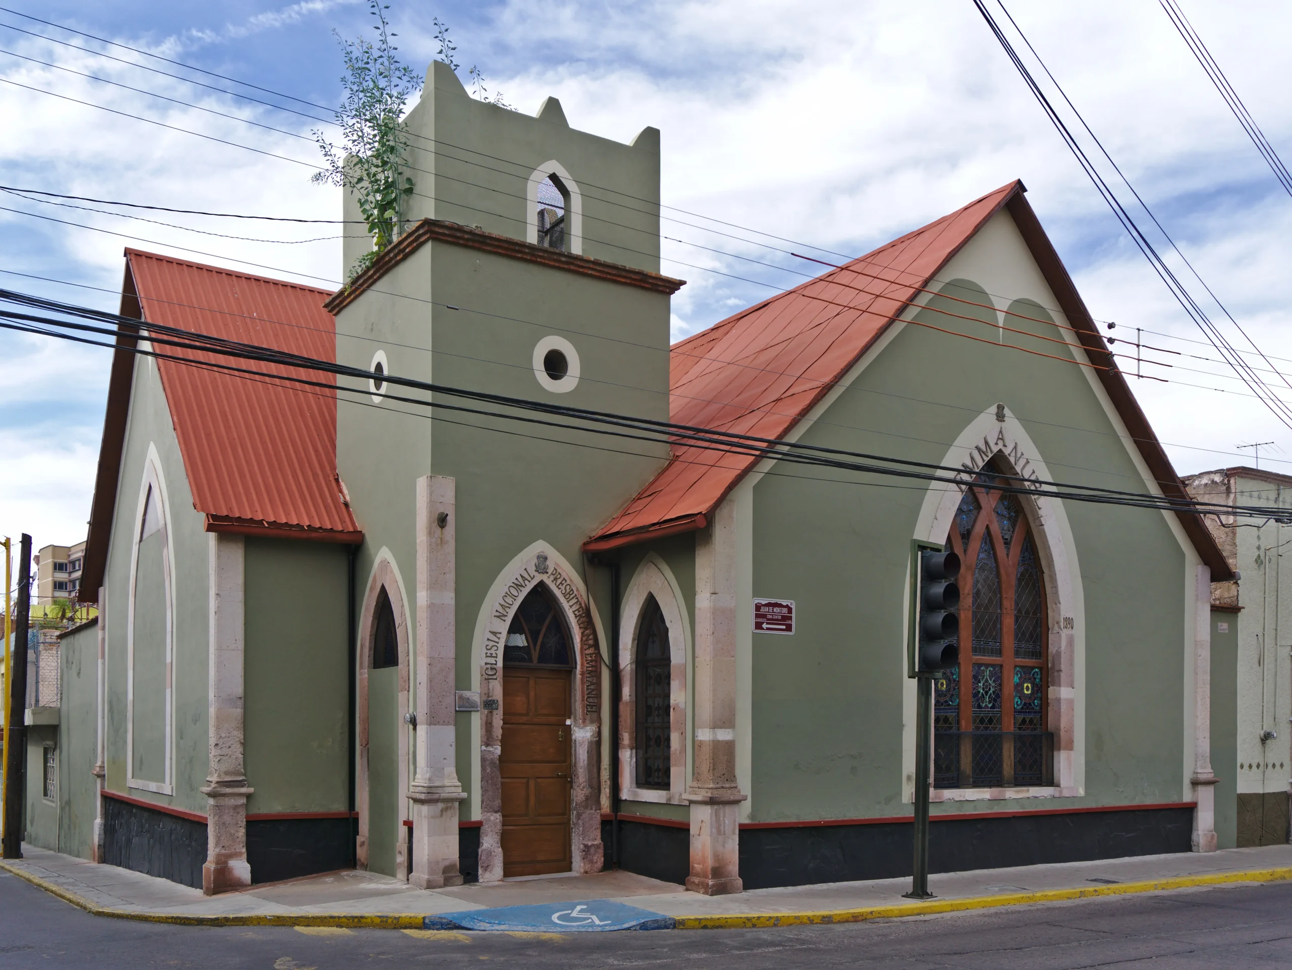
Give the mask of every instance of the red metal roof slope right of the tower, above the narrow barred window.
[[[919, 296], [919, 288], [1019, 191], [1022, 183], [1010, 182], [676, 344], [669, 369], [672, 420], [782, 438]], [[760, 460], [674, 440], [664, 470], [587, 545], [606, 548], [633, 536], [703, 527]]]

